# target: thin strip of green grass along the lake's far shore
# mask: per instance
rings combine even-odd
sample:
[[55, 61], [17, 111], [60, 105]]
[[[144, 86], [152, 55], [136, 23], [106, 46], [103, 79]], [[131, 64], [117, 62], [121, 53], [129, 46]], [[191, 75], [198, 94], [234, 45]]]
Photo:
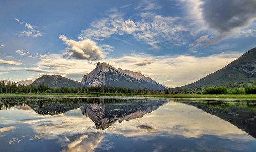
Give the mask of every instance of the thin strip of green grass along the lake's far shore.
[[0, 94], [0, 97], [96, 97], [96, 96], [136, 96], [136, 97], [159, 97], [159, 98], [223, 98], [223, 99], [256, 99], [256, 94], [144, 94], [144, 95], [127, 95], [127, 94]]

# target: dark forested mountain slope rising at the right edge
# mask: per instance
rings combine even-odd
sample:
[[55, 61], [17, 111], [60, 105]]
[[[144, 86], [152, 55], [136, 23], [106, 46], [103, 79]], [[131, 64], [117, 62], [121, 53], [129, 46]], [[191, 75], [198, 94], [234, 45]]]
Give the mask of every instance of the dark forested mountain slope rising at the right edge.
[[256, 48], [253, 48], [224, 68], [182, 87], [205, 87], [240, 83], [256, 84]]

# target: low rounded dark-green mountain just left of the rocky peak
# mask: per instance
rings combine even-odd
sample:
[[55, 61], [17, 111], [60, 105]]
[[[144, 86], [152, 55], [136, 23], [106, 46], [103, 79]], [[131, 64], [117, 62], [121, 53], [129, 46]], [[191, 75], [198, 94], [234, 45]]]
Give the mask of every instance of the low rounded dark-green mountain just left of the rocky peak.
[[82, 88], [84, 85], [82, 85], [80, 82], [70, 80], [65, 77], [61, 77], [60, 75], [43, 75], [42, 77], [36, 79], [31, 86], [38, 86], [42, 82], [44, 82], [45, 85], [48, 85], [49, 87], [69, 87], [69, 88]]

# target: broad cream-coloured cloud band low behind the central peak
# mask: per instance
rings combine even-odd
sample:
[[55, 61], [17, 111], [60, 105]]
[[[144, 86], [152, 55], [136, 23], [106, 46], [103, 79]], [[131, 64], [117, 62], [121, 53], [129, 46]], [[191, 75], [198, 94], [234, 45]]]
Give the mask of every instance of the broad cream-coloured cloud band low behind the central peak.
[[[132, 53], [119, 58], [88, 62], [87, 60], [65, 58], [64, 55], [51, 54], [48, 58], [40, 60], [37, 66], [40, 68], [54, 68], [54, 72], [63, 72], [65, 73], [63, 75], [77, 74], [79, 78], [81, 74], [86, 75], [92, 71], [98, 62], [106, 62], [116, 68], [141, 72], [168, 87], [178, 87], [193, 83], [223, 68], [241, 55], [242, 53], [239, 52], [226, 52], [205, 57], [190, 55], [153, 56], [145, 53]], [[135, 63], [144, 61], [145, 57], [147, 61], [153, 61], [150, 66], [135, 65]], [[164, 82], [166, 80], [173, 80], [173, 82]]]

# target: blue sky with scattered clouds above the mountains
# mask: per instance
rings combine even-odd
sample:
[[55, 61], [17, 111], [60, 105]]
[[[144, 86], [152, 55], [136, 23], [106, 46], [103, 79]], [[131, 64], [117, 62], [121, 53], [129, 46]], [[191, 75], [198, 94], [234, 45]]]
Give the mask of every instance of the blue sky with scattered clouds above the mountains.
[[0, 1], [0, 79], [81, 81], [98, 62], [168, 87], [256, 47], [255, 0]]

